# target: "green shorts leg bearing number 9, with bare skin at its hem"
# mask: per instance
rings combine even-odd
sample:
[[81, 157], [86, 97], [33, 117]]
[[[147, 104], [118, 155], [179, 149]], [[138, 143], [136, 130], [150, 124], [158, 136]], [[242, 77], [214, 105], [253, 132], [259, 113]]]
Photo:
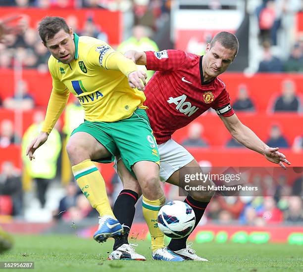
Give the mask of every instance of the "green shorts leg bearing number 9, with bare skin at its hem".
[[112, 137], [126, 168], [133, 172], [136, 163], [148, 161], [154, 166], [149, 171], [145, 169], [145, 176], [158, 176], [159, 152], [146, 111], [137, 109], [130, 118], [113, 125]]

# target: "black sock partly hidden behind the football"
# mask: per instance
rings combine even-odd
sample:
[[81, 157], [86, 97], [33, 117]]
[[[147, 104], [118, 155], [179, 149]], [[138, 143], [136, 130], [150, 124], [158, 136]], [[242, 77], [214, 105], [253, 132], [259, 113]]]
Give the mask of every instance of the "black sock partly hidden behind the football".
[[[199, 222], [202, 218], [202, 215], [204, 214], [204, 211], [209, 202], [197, 201], [194, 198], [192, 198], [190, 195], [188, 195], [185, 198], [184, 202], [187, 203], [188, 205], [190, 205], [195, 212], [195, 216], [196, 216], [196, 223], [195, 223], [195, 227], [194, 227], [194, 229], [195, 229], [197, 227], [197, 225], [199, 224]], [[171, 239], [171, 241], [167, 247], [173, 251], [186, 248], [186, 241], [187, 241], [188, 237], [189, 237], [189, 235], [187, 235], [183, 238], [180, 238], [180, 239]]]

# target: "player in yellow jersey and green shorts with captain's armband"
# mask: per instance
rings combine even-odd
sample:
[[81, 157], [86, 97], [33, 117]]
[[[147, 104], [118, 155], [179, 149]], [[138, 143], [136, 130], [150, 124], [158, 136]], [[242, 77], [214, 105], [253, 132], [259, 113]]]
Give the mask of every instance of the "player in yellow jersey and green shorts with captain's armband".
[[[109, 163], [117, 155], [142, 188], [147, 203], [143, 213], [151, 235], [162, 236], [156, 225], [157, 210], [165, 203], [159, 155], [143, 106], [146, 97], [140, 91], [144, 90], [146, 73], [106, 43], [79, 37], [63, 18], [44, 18], [39, 35], [51, 53], [52, 91], [42, 131], [26, 150], [29, 159], [48, 139], [71, 92], [85, 110], [85, 122], [73, 131], [66, 150], [78, 185], [100, 213], [95, 240], [103, 242], [122, 231], [110, 208], [104, 180], [93, 163]], [[163, 241], [156, 246], [164, 247]]]

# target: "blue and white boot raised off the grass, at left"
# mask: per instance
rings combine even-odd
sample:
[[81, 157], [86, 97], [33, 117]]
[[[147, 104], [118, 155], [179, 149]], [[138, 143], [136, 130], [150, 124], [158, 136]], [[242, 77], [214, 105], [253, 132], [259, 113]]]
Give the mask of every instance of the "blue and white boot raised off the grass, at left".
[[121, 235], [123, 227], [118, 220], [109, 215], [104, 215], [99, 218], [99, 228], [94, 234], [94, 239], [97, 242], [103, 243], [109, 237], [114, 238]]

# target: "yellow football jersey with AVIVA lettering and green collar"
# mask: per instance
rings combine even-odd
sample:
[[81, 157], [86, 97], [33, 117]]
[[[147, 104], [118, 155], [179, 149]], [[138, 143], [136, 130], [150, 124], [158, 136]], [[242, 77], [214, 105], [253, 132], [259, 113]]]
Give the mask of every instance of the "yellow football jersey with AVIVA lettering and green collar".
[[138, 107], [147, 108], [143, 91], [132, 89], [122, 72], [107, 69], [107, 60], [119, 52], [92, 37], [74, 34], [74, 43], [75, 57], [69, 64], [50, 56], [52, 92], [62, 97], [73, 93], [88, 121], [115, 122], [129, 118]]

